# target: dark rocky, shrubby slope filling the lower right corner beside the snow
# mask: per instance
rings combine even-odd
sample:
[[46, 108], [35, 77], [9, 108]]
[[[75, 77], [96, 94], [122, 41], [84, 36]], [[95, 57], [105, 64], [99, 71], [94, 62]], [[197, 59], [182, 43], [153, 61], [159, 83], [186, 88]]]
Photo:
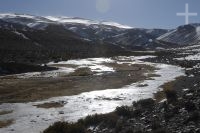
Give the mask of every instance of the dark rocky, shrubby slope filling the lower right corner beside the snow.
[[[178, 53], [180, 53], [179, 51]], [[179, 65], [186, 76], [162, 87], [155, 99], [134, 102], [105, 115], [88, 116], [74, 124], [58, 122], [45, 133], [199, 133], [200, 68], [198, 60], [175, 60], [180, 54], [158, 53], [150, 62]], [[196, 67], [194, 67], [196, 66]], [[159, 98], [158, 98], [159, 97]]]

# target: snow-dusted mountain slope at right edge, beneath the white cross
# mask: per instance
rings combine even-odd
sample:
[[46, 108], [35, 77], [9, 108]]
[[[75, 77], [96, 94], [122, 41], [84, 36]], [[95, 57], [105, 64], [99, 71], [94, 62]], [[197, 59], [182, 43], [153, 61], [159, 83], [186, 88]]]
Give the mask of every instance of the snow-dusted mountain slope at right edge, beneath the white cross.
[[176, 53], [175, 61], [190, 61], [188, 66], [194, 68], [193, 63], [200, 60], [200, 24], [179, 26], [158, 37], [157, 41], [167, 51]]

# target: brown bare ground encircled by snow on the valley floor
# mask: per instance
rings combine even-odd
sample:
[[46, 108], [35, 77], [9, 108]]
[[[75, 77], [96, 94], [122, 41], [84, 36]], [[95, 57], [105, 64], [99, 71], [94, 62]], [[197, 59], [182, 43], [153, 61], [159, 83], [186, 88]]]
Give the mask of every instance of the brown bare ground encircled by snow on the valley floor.
[[107, 64], [114, 67], [114, 73], [103, 75], [67, 76], [59, 78], [17, 79], [0, 78], [0, 104], [30, 102], [56, 96], [70, 96], [103, 89], [116, 89], [147, 78], [152, 73], [149, 65]]

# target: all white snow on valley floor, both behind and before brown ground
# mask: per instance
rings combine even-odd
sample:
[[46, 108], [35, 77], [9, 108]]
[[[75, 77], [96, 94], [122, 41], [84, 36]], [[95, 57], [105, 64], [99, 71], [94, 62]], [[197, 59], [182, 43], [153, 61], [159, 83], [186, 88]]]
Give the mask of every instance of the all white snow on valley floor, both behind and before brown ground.
[[[161, 90], [161, 85], [174, 80], [176, 77], [183, 76], [184, 70], [177, 66], [166, 64], [155, 64], [140, 61], [142, 57], [117, 57], [116, 60], [111, 58], [90, 58], [82, 60], [71, 60], [67, 62], [49, 63], [49, 65], [62, 67], [53, 72], [43, 73], [26, 73], [17, 75], [19, 78], [33, 77], [51, 77], [58, 76], [57, 73], [70, 73], [77, 67], [89, 67], [95, 74], [105, 72], [115, 72], [112, 67], [105, 66], [105, 63], [117, 62], [118, 64], [146, 64], [156, 68], [153, 74], [160, 75], [152, 79], [146, 79], [121, 88], [107, 88], [105, 90], [96, 90], [83, 92], [78, 95], [53, 97], [50, 99], [28, 102], [28, 103], [3, 103], [0, 105], [0, 111], [12, 110], [12, 113], [0, 115], [1, 120], [14, 120], [14, 123], [6, 128], [1, 128], [0, 133], [39, 133], [56, 121], [74, 122], [87, 115], [95, 113], [108, 113], [115, 110], [117, 106], [131, 105], [133, 101], [151, 98], [154, 93]], [[152, 58], [152, 57], [151, 57]], [[63, 65], [75, 65], [76, 68], [63, 68]], [[66, 70], [66, 71], [65, 71]], [[147, 73], [145, 73], [147, 74]], [[102, 83], [103, 84], [103, 83]], [[144, 85], [144, 86], [141, 86]], [[60, 108], [37, 108], [34, 105], [47, 102], [65, 103]]]

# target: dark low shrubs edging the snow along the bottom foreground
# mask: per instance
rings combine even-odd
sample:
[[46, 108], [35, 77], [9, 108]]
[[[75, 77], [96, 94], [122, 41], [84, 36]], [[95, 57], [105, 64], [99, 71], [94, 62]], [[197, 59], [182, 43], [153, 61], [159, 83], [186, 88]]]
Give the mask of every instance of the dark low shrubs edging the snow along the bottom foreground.
[[80, 119], [77, 123], [56, 122], [47, 128], [44, 133], [86, 133], [89, 132], [89, 127], [107, 127], [117, 131], [120, 130], [120, 118], [137, 117], [145, 110], [152, 108], [154, 103], [153, 99], [145, 99], [134, 102], [134, 107], [117, 107], [114, 112], [89, 115], [84, 119]]

